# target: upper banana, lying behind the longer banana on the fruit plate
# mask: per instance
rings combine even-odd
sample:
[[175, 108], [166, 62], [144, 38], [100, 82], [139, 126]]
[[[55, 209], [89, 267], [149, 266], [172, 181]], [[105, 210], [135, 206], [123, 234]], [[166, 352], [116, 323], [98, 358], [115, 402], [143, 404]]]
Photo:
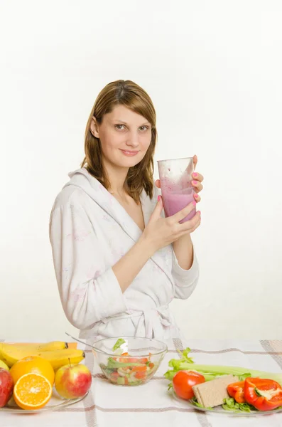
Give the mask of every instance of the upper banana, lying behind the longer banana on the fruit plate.
[[[56, 349], [56, 347], [60, 347], [61, 349]], [[2, 360], [6, 365], [8, 365], [8, 367], [12, 367], [13, 364], [18, 362], [18, 360], [23, 359], [23, 357], [38, 356], [39, 353], [43, 357], [43, 354], [45, 352], [48, 354], [58, 352], [58, 357], [62, 357], [60, 356], [62, 352], [70, 352], [70, 350], [74, 350], [67, 348], [62, 349], [62, 347], [65, 347], [65, 343], [63, 342], [50, 342], [46, 344], [8, 344], [5, 342], [1, 342], [0, 360]], [[67, 354], [65, 354], [65, 357], [67, 357]]]

